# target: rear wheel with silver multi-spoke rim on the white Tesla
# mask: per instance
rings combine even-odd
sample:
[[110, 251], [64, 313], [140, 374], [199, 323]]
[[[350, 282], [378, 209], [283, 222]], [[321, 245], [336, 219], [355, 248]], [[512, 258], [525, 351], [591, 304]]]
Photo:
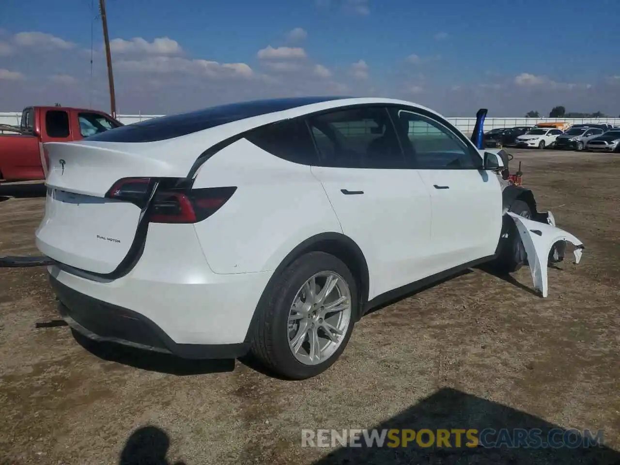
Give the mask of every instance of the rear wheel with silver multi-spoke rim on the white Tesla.
[[342, 260], [309, 252], [265, 291], [251, 352], [269, 370], [307, 379], [327, 370], [345, 349], [358, 315], [358, 286]]

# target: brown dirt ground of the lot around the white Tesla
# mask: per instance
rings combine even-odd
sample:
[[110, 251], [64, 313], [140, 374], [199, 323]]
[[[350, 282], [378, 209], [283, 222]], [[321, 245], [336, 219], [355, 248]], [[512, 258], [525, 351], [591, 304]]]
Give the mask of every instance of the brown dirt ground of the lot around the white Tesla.
[[[363, 318], [308, 381], [35, 329], [56, 318], [45, 270], [0, 270], [0, 464], [619, 464], [620, 158], [511, 153], [582, 263], [551, 268], [546, 299], [528, 268], [420, 291]], [[37, 253], [44, 193], [0, 185], [0, 255]], [[602, 429], [606, 447], [301, 447], [302, 428], [373, 427]]]

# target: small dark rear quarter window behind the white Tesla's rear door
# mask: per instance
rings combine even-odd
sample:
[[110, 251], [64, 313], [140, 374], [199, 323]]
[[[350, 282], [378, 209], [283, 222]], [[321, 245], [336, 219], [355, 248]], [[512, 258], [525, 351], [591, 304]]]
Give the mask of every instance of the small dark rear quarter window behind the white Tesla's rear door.
[[317, 153], [304, 120], [285, 120], [263, 126], [251, 131], [246, 139], [286, 161], [316, 165]]

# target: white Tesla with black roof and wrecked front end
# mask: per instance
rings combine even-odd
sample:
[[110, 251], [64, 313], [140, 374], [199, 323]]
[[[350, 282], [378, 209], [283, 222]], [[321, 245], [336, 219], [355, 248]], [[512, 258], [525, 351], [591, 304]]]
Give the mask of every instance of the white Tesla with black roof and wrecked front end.
[[401, 100], [223, 105], [45, 151], [44, 255], [4, 266], [48, 265], [61, 316], [92, 339], [252, 352], [288, 378], [332, 365], [370, 309], [463, 268], [528, 262], [546, 295], [548, 255], [581, 246], [502, 188], [502, 156]]

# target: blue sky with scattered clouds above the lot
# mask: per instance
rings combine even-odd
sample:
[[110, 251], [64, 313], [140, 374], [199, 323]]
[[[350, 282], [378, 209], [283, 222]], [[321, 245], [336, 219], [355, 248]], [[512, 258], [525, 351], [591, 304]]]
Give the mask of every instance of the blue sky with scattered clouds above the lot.
[[[97, 1], [94, 4], [96, 8]], [[451, 116], [473, 114], [476, 105], [503, 116], [531, 109], [547, 113], [560, 104], [570, 110], [601, 110], [618, 116], [620, 61], [613, 59], [619, 55], [618, 0], [598, 0], [596, 8], [575, 0], [480, 0], [471, 5], [455, 0], [107, 0], [110, 38], [139, 37], [148, 43], [168, 38], [179, 47], [178, 53], [163, 54], [143, 47], [143, 55], [138, 56], [140, 47], [121, 48], [118, 43], [119, 52], [113, 53], [113, 59], [120, 107], [125, 112], [175, 112], [193, 108], [197, 102], [209, 105], [236, 97], [340, 90], [336, 93], [414, 100]], [[105, 63], [95, 57], [96, 76], [91, 81], [89, 57], [84, 53], [91, 47], [91, 6], [91, 0], [63, 0], [53, 9], [48, 0], [30, 0], [28, 7], [15, 0], [2, 1], [0, 41], [12, 47], [13, 53], [0, 56], [0, 69], [24, 76], [11, 79], [15, 89], [18, 80], [23, 94], [25, 81], [30, 89], [34, 82], [43, 86], [45, 81], [47, 91], [37, 91], [37, 97], [58, 95], [84, 104], [84, 89], [72, 95], [59, 87], [62, 79], [49, 82], [51, 66], [62, 68], [54, 71], [59, 76], [71, 76], [80, 84], [87, 78], [89, 102], [105, 105], [105, 99], [100, 99], [105, 94], [101, 87]], [[610, 21], [616, 26], [601, 26]], [[94, 26], [99, 51], [101, 27], [99, 22]], [[303, 29], [305, 37], [299, 32], [290, 37], [294, 29]], [[74, 47], [53, 52], [47, 47], [45, 59], [40, 60], [37, 53], [45, 47], [16, 53], [18, 45], [12, 37], [19, 32], [42, 32]], [[275, 65], [291, 63], [283, 55], [259, 58], [259, 50], [268, 46], [303, 49], [304, 57], [297, 59], [305, 60], [304, 66], [295, 65], [293, 70], [292, 65]], [[158, 53], [175, 56], [166, 65], [176, 66], [174, 73], [164, 72], [163, 59], [153, 66]], [[136, 64], [147, 59], [149, 66]], [[187, 73], [195, 73], [189, 68], [198, 62], [190, 66], [192, 60], [244, 63], [254, 77], [251, 82], [239, 82], [227, 75], [226, 86], [221, 79], [206, 86], [195, 74], [184, 81], [179, 69], [187, 65]], [[355, 68], [360, 60], [365, 65]], [[46, 68], [37, 68], [43, 61]], [[310, 70], [316, 71], [317, 65], [328, 70], [318, 73], [323, 84], [316, 76], [311, 78]], [[360, 67], [365, 71], [355, 73]], [[69, 78], [64, 80], [69, 82]], [[145, 80], [149, 81], [146, 86]], [[157, 88], [157, 92], [169, 89], [174, 98], [164, 97], [157, 103], [136, 95], [146, 92], [145, 87]], [[12, 96], [12, 105], [25, 102], [27, 95], [20, 92]]]

